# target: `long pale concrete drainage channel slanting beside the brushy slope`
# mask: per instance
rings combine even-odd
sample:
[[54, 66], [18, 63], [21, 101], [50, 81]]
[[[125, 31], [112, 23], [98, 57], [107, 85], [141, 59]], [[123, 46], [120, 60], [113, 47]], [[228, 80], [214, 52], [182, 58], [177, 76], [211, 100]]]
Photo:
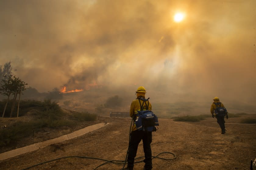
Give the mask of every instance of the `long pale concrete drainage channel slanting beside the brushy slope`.
[[11, 151], [7, 151], [7, 152], [4, 152], [4, 153], [0, 154], [0, 160], [8, 159], [8, 158], [11, 158], [11, 157], [14, 157], [14, 156], [17, 156], [17, 155], [21, 155], [21, 154], [24, 154], [24, 153], [27, 153], [27, 152], [30, 152], [30, 151], [34, 151], [34, 150], [37, 150], [39, 148], [46, 147], [50, 144], [55, 144], [55, 143], [66, 141], [66, 140], [69, 140], [69, 139], [72, 139], [72, 138], [76, 138], [78, 136], [81, 136], [81, 135], [86, 134], [88, 132], [94, 131], [94, 130], [96, 130], [98, 128], [101, 128], [101, 127], [103, 127], [105, 125], [108, 125], [108, 124], [109, 123], [107, 123], [107, 124], [105, 124], [105, 123], [94, 124], [94, 125], [85, 127], [83, 129], [80, 129], [78, 131], [74, 131], [70, 134], [65, 134], [63, 136], [60, 136], [59, 138], [54, 138], [54, 139], [50, 139], [48, 141], [43, 141], [43, 142], [40, 142], [40, 143], [31, 144], [31, 145], [25, 146], [23, 148], [18, 148], [18, 149], [14, 149], [14, 150], [11, 150]]

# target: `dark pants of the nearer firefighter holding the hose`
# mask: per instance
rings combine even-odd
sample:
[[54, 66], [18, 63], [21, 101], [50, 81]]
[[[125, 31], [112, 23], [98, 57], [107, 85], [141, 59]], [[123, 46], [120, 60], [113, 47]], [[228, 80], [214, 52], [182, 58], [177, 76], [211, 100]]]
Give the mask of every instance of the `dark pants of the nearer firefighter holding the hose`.
[[128, 157], [127, 162], [129, 167], [133, 167], [134, 164], [134, 158], [137, 154], [137, 149], [140, 141], [143, 141], [143, 150], [144, 150], [144, 168], [146, 170], [152, 169], [152, 153], [151, 153], [151, 147], [150, 144], [152, 142], [152, 132], [147, 131], [132, 131], [131, 132], [131, 141], [129, 144], [129, 151], [128, 151]]

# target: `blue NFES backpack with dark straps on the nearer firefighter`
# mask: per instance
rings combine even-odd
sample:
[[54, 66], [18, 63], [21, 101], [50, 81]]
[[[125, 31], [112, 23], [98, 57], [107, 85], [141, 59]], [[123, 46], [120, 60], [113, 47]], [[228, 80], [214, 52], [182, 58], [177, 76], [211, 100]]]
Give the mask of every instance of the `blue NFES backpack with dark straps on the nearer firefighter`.
[[[138, 98], [139, 102], [140, 100], [143, 101], [142, 104], [140, 102], [140, 110], [137, 110], [138, 114], [135, 115], [135, 125], [138, 131], [153, 132], [157, 130], [155, 126], [159, 126], [158, 117], [151, 110], [148, 110], [148, 99]], [[146, 101], [148, 101], [148, 105]], [[146, 106], [143, 106], [144, 103]], [[146, 107], [146, 110], [143, 110], [144, 107]]]

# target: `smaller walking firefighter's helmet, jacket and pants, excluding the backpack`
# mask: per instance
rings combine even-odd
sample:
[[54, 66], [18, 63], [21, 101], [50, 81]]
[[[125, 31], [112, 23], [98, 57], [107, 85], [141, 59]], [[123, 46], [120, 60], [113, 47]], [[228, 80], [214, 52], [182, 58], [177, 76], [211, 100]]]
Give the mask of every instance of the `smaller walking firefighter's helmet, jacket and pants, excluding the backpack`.
[[[218, 107], [224, 107], [224, 104], [222, 104], [220, 101], [219, 101], [219, 97], [214, 97], [213, 99], [213, 103], [211, 105], [211, 114], [212, 114], [212, 117], [216, 117], [217, 119], [217, 123], [219, 124], [220, 128], [221, 128], [221, 134], [225, 134], [226, 133], [226, 129], [225, 129], [225, 120], [224, 120], [224, 117], [225, 116], [218, 116], [218, 115], [215, 115], [214, 114], [214, 110], [216, 109], [216, 104], [218, 105]], [[225, 108], [225, 107], [224, 107]], [[226, 113], [226, 119], [228, 119], [229, 116], [228, 114]]]

